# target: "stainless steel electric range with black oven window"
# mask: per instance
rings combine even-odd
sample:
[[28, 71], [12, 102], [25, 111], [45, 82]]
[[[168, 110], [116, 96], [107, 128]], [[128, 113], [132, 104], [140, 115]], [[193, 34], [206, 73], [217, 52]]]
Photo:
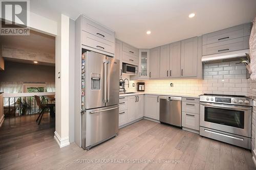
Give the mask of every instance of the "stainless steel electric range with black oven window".
[[200, 96], [200, 135], [251, 149], [252, 99], [241, 95]]

